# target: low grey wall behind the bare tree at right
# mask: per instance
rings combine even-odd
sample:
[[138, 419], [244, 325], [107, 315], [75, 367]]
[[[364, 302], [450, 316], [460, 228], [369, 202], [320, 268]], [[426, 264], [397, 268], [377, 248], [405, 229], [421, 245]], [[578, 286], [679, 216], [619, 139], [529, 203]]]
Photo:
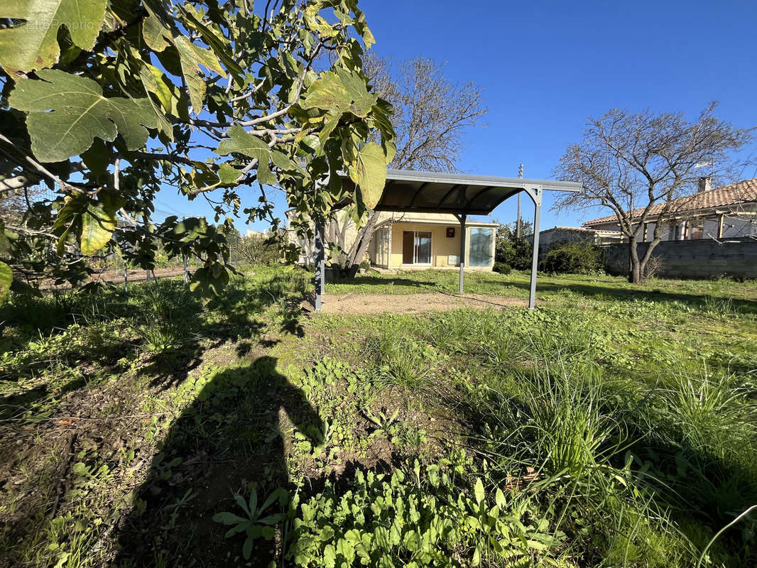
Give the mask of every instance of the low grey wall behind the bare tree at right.
[[[649, 243], [638, 243], [643, 257]], [[662, 261], [656, 276], [668, 278], [709, 278], [734, 276], [757, 278], [757, 239], [745, 237], [716, 242], [713, 239], [663, 241], [652, 253]], [[628, 273], [628, 245], [605, 247], [606, 270], [611, 274]]]

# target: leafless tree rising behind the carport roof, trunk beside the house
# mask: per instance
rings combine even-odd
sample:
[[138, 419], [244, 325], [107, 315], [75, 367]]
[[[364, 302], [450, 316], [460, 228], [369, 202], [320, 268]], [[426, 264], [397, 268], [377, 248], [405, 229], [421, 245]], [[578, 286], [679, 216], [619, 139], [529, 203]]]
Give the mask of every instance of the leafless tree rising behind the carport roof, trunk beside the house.
[[[487, 111], [481, 88], [474, 83], [451, 83], [444, 77], [443, 66], [426, 58], [395, 65], [389, 58], [369, 53], [363, 59], [363, 71], [373, 90], [394, 107], [391, 122], [397, 154], [391, 167], [458, 171], [455, 164], [463, 151], [466, 130], [478, 125]], [[365, 257], [377, 220], [378, 214], [369, 215], [351, 243], [344, 242], [345, 227], [339, 226], [340, 221], [332, 221], [329, 235], [335, 242], [341, 239], [343, 266], [350, 276]]]

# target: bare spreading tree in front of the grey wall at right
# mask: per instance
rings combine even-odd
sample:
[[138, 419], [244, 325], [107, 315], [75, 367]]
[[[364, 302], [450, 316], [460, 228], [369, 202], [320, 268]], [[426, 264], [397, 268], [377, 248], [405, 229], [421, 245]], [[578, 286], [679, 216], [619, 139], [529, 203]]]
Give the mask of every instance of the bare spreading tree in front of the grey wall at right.
[[[696, 191], [701, 165], [712, 165], [716, 179], [727, 179], [737, 167], [734, 151], [752, 140], [752, 130], [713, 116], [715, 106], [711, 103], [693, 122], [681, 113], [609, 111], [589, 119], [581, 143], [569, 146], [560, 158], [556, 175], [581, 182], [584, 189], [563, 195], [554, 208], [609, 208], [628, 237], [630, 282], [643, 282], [665, 220], [674, 210], [686, 209], [686, 199], [671, 201]], [[637, 237], [650, 214], [658, 216], [653, 239], [639, 257]]]

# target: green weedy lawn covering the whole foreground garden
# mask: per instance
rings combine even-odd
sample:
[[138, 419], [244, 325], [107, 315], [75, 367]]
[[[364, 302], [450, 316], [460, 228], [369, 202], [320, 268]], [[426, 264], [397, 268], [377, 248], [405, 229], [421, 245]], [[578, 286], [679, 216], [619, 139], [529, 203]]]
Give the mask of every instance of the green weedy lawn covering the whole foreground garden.
[[11, 298], [0, 566], [757, 561], [755, 282], [540, 276], [534, 312], [371, 317], [307, 316], [311, 289], [251, 267], [207, 303], [180, 280]]

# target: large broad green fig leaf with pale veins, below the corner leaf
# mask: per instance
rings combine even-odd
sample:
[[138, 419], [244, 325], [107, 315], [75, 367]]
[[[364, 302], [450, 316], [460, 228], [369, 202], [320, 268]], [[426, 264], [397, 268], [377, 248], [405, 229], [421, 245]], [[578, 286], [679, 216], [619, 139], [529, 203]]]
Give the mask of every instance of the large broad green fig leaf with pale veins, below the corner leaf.
[[8, 103], [29, 113], [26, 127], [39, 161], [63, 161], [81, 154], [95, 136], [112, 142], [120, 134], [126, 148], [135, 150], [147, 141], [145, 126], [157, 125], [147, 98], [106, 98], [95, 81], [59, 70], [41, 70], [37, 75], [42, 81], [19, 80]]

